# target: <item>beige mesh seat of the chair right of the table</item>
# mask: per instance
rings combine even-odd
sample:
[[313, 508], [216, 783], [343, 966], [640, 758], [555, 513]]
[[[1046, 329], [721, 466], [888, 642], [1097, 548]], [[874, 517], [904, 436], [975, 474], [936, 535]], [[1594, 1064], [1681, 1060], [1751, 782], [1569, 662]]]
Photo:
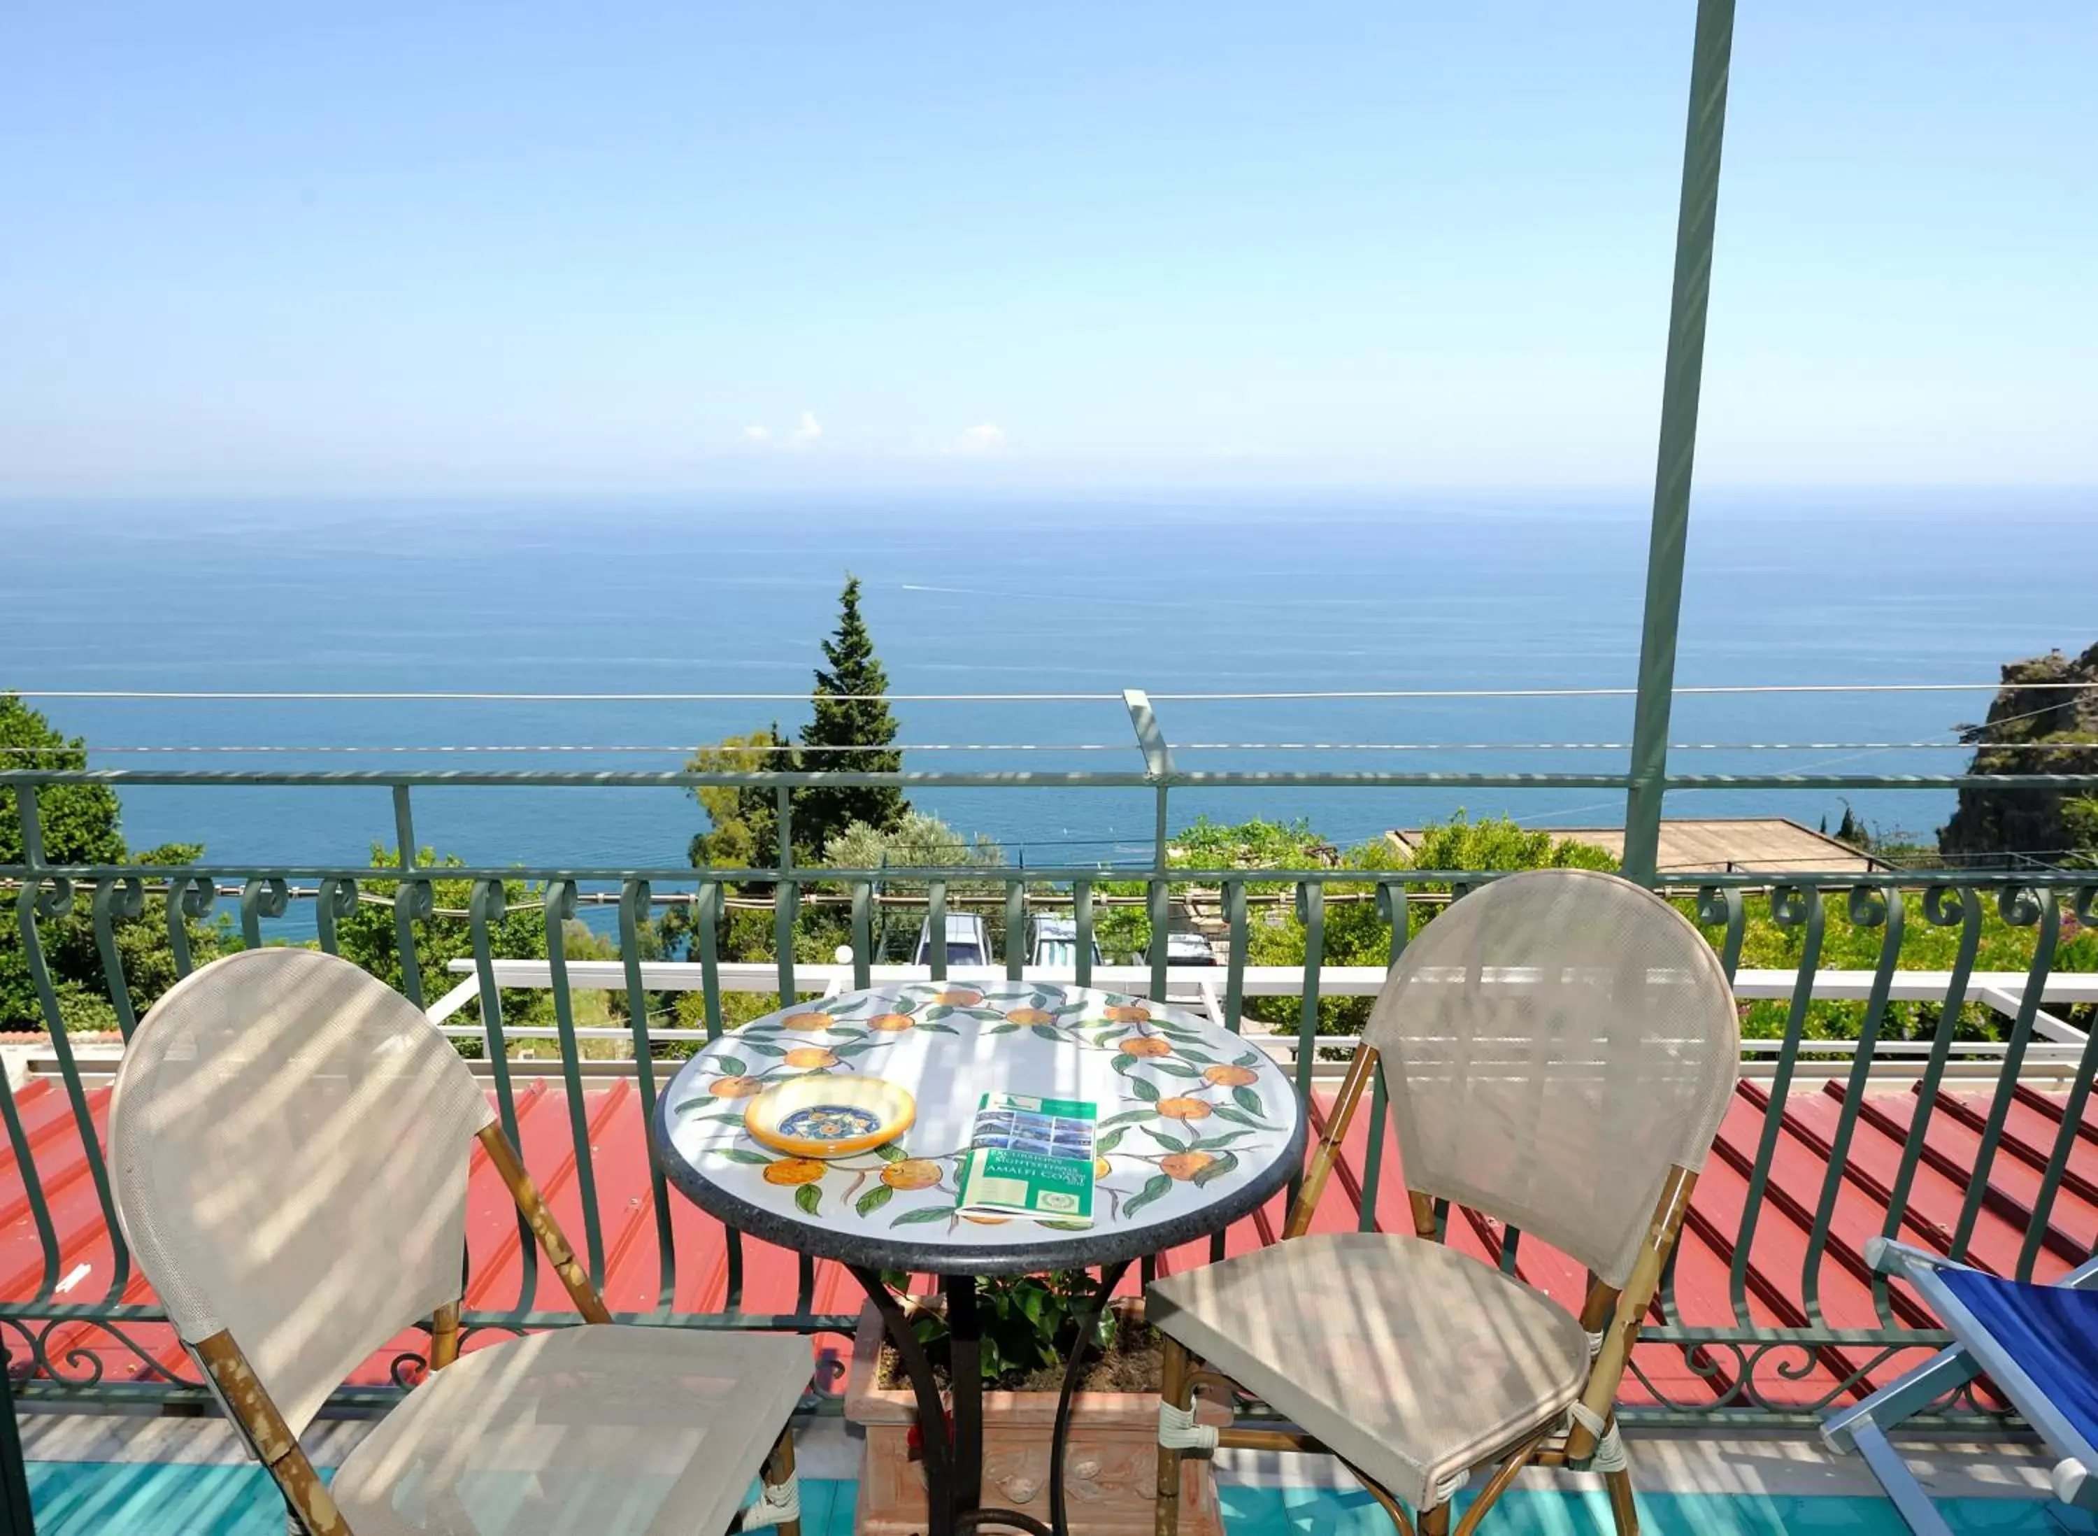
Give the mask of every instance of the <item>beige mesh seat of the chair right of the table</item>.
[[1148, 1295], [1150, 1322], [1414, 1509], [1588, 1381], [1580, 1320], [1422, 1238], [1303, 1236]]

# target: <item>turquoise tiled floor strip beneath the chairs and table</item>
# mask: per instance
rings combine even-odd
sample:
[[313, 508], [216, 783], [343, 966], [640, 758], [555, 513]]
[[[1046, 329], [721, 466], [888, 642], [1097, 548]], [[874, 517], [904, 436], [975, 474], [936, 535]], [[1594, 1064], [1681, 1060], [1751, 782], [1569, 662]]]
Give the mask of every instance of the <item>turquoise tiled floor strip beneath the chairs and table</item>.
[[[283, 1507], [258, 1467], [29, 1463], [40, 1536], [283, 1536]], [[852, 1484], [801, 1484], [806, 1536], [852, 1536]], [[1894, 1511], [1871, 1498], [1760, 1498], [1641, 1494], [1643, 1526], [1691, 1536], [1903, 1536]], [[1941, 1505], [1962, 1536], [2062, 1536], [2098, 1521], [2041, 1500], [1964, 1498]], [[1389, 1536], [1368, 1494], [1225, 1488], [1229, 1536]], [[1603, 1536], [1601, 1494], [1517, 1490], [1487, 1530], [1494, 1536]]]

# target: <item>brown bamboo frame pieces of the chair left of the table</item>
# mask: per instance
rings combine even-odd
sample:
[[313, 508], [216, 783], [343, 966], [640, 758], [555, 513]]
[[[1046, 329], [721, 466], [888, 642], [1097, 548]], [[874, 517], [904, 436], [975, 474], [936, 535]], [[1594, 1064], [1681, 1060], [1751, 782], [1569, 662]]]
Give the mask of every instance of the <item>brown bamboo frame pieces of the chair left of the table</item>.
[[[552, 1209], [548, 1209], [545, 1196], [539, 1194], [539, 1186], [533, 1183], [531, 1175], [524, 1171], [524, 1160], [518, 1156], [518, 1150], [510, 1144], [510, 1137], [504, 1135], [504, 1127], [485, 1127], [480, 1131], [480, 1148], [489, 1154], [489, 1165], [501, 1177], [504, 1188], [510, 1190], [510, 1198], [516, 1200], [518, 1213], [531, 1225], [533, 1236], [539, 1240], [539, 1249], [554, 1267], [554, 1274], [560, 1276], [560, 1284], [566, 1288], [575, 1309], [583, 1316], [583, 1324], [608, 1324], [613, 1314], [604, 1307], [604, 1297], [600, 1297], [598, 1288], [590, 1282], [590, 1272], [575, 1257], [575, 1249], [569, 1246], [569, 1238], [562, 1234]], [[256, 1379], [254, 1368], [248, 1364], [248, 1356], [241, 1353], [233, 1335], [220, 1328], [210, 1339], [191, 1343], [189, 1349], [204, 1366], [206, 1377], [227, 1412], [233, 1416], [233, 1423], [248, 1437], [248, 1446], [254, 1450], [256, 1460], [269, 1469], [271, 1479], [277, 1484], [277, 1492], [283, 1494], [285, 1509], [290, 1511], [296, 1530], [306, 1532], [306, 1536], [355, 1536], [348, 1521], [342, 1517], [342, 1511], [336, 1507], [336, 1500], [329, 1496], [327, 1484], [323, 1484], [315, 1473], [304, 1446], [298, 1444], [298, 1435], [292, 1433], [283, 1414], [277, 1412], [277, 1404], [273, 1404], [269, 1391], [262, 1389], [262, 1383]], [[430, 1318], [430, 1370], [443, 1370], [457, 1358], [459, 1303], [449, 1301]], [[787, 1427], [780, 1429], [780, 1437], [774, 1442], [772, 1452], [766, 1458], [764, 1481], [768, 1488], [780, 1488], [791, 1479], [793, 1427]], [[778, 1530], [783, 1536], [801, 1536], [801, 1521], [780, 1521]]]

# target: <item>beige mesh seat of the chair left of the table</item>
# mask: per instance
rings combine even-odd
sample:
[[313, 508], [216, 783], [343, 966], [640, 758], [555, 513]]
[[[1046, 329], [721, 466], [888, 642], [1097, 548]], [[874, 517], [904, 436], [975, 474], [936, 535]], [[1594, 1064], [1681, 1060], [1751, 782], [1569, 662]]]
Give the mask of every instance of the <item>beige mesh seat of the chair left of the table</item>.
[[789, 1335], [590, 1326], [459, 1356], [350, 1452], [357, 1536], [713, 1536], [808, 1381]]

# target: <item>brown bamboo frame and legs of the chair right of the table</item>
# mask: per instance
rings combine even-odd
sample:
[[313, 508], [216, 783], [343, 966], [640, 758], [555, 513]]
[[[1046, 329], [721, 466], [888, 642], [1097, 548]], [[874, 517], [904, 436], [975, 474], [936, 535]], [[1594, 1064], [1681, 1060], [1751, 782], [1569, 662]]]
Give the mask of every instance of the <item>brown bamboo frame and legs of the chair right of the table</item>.
[[[1347, 1076], [1341, 1081], [1341, 1093], [1334, 1097], [1332, 1112], [1326, 1116], [1326, 1129], [1311, 1154], [1311, 1165], [1305, 1169], [1305, 1181], [1297, 1192], [1297, 1202], [1290, 1207], [1288, 1221], [1282, 1228], [1284, 1242], [1301, 1238], [1309, 1232], [1311, 1215], [1318, 1211], [1320, 1196], [1326, 1192], [1326, 1181], [1332, 1177], [1332, 1165], [1341, 1154], [1341, 1142], [1347, 1137], [1347, 1129], [1355, 1118], [1362, 1093], [1376, 1072], [1376, 1051], [1366, 1043], [1357, 1045], [1355, 1055], [1347, 1066]], [[1697, 1175], [1691, 1169], [1678, 1165], [1668, 1169], [1668, 1177], [1662, 1181], [1662, 1198], [1653, 1207], [1653, 1217], [1647, 1223], [1647, 1236], [1639, 1246], [1639, 1257], [1632, 1263], [1632, 1274], [1626, 1278], [1624, 1288], [1620, 1290], [1599, 1280], [1590, 1280], [1588, 1295], [1582, 1303], [1580, 1326], [1588, 1332], [1590, 1345], [1601, 1335], [1601, 1347], [1594, 1349], [1594, 1360], [1588, 1368], [1588, 1385], [1580, 1395], [1580, 1406], [1588, 1416], [1605, 1427], [1605, 1435], [1615, 1429], [1618, 1385], [1624, 1381], [1624, 1370], [1630, 1364], [1632, 1345], [1639, 1343], [1639, 1326], [1653, 1307], [1653, 1297], [1662, 1284], [1662, 1272], [1668, 1267], [1668, 1255], [1676, 1246], [1676, 1234], [1683, 1230], [1683, 1217], [1689, 1211], [1691, 1190], [1695, 1186]], [[1408, 1190], [1406, 1198], [1412, 1207], [1414, 1236], [1429, 1242], [1441, 1242], [1441, 1223], [1435, 1215], [1435, 1198], [1422, 1194], [1420, 1190]], [[1166, 1335], [1160, 1398], [1173, 1408], [1187, 1410], [1194, 1406], [1196, 1387], [1217, 1387], [1227, 1395], [1253, 1395], [1246, 1393], [1236, 1381], [1198, 1366], [1187, 1347]], [[1225, 1425], [1217, 1431], [1217, 1444], [1236, 1450], [1334, 1454], [1324, 1442], [1299, 1429], [1238, 1429], [1234, 1425]], [[1580, 1416], [1571, 1421], [1569, 1429], [1561, 1429], [1557, 1421], [1527, 1427], [1519, 1439], [1502, 1446], [1492, 1456], [1471, 1467], [1473, 1475], [1485, 1469], [1492, 1469], [1492, 1475], [1479, 1490], [1479, 1496], [1464, 1511], [1464, 1519], [1458, 1521], [1456, 1536], [1471, 1536], [1479, 1528], [1479, 1521], [1485, 1519], [1487, 1511], [1492, 1511], [1496, 1502], [1500, 1502], [1500, 1496], [1508, 1492], [1523, 1467], [1580, 1467], [1597, 1454], [1597, 1431], [1588, 1429]], [[1177, 1536], [1179, 1532], [1179, 1473], [1181, 1456], [1187, 1454], [1198, 1452], [1177, 1450], [1164, 1444], [1158, 1446], [1156, 1536]], [[1362, 1481], [1370, 1496], [1383, 1505], [1401, 1536], [1416, 1536], [1416, 1528], [1408, 1519], [1406, 1509], [1391, 1496], [1389, 1490], [1380, 1488], [1347, 1460], [1339, 1456], [1336, 1460], [1341, 1460], [1341, 1465]], [[1609, 1490], [1609, 1513], [1615, 1521], [1618, 1536], [1639, 1536], [1639, 1513], [1632, 1507], [1630, 1471], [1605, 1471], [1603, 1481]], [[1446, 1500], [1433, 1509], [1416, 1511], [1420, 1517], [1418, 1536], [1450, 1536], [1450, 1509], [1452, 1507]]]

